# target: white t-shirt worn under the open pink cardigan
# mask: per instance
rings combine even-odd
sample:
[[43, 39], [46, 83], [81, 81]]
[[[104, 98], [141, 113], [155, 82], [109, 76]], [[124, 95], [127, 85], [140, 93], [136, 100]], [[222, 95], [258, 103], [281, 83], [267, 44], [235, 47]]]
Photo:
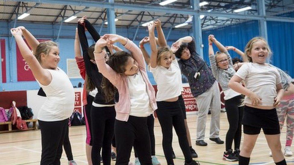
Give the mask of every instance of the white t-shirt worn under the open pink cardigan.
[[147, 93], [146, 83], [139, 71], [135, 75], [127, 76], [130, 94], [130, 116], [147, 117], [153, 113]]

